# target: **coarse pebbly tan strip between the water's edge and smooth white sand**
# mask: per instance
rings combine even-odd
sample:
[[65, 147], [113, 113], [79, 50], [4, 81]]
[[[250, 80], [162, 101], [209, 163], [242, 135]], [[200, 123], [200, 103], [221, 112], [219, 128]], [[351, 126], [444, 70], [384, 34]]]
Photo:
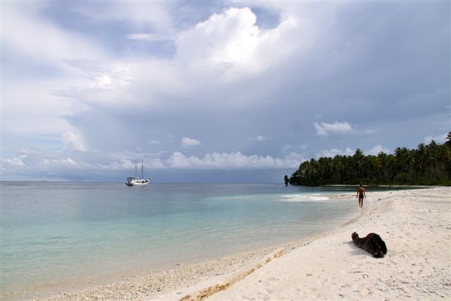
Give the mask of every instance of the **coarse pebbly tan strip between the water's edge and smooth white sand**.
[[[340, 197], [340, 196], [338, 196]], [[349, 199], [349, 197], [347, 197]], [[87, 288], [74, 288], [51, 295], [50, 297], [32, 297], [32, 300], [63, 301], [63, 300], [156, 300], [166, 299], [171, 294], [171, 300], [180, 299], [184, 290], [196, 288], [202, 283], [209, 283], [212, 279], [223, 278], [247, 266], [258, 262], [261, 258], [282, 247], [285, 250], [294, 250], [297, 247], [308, 245], [312, 241], [335, 233], [337, 230], [319, 233], [302, 240], [287, 242], [283, 245], [273, 245], [258, 250], [240, 252], [225, 257], [218, 257], [197, 264], [175, 266], [167, 271], [154, 272], [147, 276], [133, 276], [123, 281], [94, 285]], [[24, 299], [27, 300], [27, 299]]]

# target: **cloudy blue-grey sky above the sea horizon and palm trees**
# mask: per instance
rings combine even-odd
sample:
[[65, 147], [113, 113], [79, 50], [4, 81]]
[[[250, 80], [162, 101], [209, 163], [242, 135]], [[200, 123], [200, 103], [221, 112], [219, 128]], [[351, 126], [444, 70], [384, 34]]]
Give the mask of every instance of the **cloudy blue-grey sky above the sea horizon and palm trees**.
[[283, 183], [451, 130], [449, 1], [1, 1], [1, 180]]

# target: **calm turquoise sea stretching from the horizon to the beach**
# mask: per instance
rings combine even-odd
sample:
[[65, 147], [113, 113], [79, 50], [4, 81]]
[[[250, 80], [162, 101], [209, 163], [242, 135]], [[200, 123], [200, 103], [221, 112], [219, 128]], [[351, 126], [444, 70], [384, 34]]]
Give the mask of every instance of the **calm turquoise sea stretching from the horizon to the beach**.
[[[120, 279], [328, 231], [353, 188], [1, 183], [1, 292]], [[321, 194], [321, 195], [319, 195]]]

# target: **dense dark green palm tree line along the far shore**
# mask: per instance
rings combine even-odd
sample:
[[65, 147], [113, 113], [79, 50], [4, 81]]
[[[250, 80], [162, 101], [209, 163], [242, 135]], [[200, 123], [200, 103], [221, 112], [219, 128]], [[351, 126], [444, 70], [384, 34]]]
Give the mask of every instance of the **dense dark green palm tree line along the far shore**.
[[352, 156], [310, 159], [284, 180], [291, 185], [451, 185], [451, 132], [443, 144], [397, 147], [394, 154], [366, 156], [356, 149]]

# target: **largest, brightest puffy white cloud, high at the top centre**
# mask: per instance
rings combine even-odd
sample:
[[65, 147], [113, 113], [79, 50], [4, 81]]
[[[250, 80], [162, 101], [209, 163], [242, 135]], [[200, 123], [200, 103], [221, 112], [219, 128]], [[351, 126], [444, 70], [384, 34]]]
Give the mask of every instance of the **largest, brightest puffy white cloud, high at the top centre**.
[[210, 63], [228, 68], [241, 66], [242, 71], [256, 72], [278, 63], [297, 47], [297, 41], [290, 36], [297, 27], [292, 16], [286, 16], [273, 30], [261, 30], [256, 23], [257, 16], [250, 8], [228, 8], [223, 13], [214, 13], [179, 35], [178, 57], [199, 60], [202, 68]]

